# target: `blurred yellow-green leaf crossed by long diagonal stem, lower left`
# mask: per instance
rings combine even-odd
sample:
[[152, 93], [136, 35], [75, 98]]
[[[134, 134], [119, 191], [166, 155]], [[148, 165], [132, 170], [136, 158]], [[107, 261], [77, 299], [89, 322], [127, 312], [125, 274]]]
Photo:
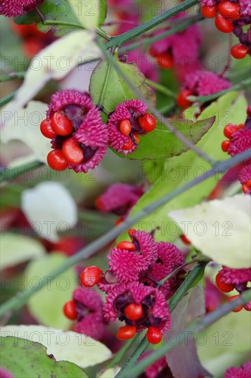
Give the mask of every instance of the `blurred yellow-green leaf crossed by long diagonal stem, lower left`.
[[72, 292], [77, 285], [77, 278], [73, 268], [64, 271], [64, 274], [52, 280], [49, 276], [53, 269], [65, 262], [67, 257], [59, 253], [51, 253], [43, 259], [29, 263], [24, 277], [29, 287], [38, 285], [47, 277], [48, 285], [34, 293], [28, 301], [29, 311], [34, 318], [46, 326], [67, 329], [71, 324], [62, 311], [64, 303], [71, 300]]

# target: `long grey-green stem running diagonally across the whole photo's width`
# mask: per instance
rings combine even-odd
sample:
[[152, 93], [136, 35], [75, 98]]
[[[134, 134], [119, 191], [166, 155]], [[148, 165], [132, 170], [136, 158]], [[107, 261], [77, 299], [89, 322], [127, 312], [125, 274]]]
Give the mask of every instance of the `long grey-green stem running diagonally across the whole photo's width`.
[[[189, 181], [186, 184], [184, 184], [184, 186], [176, 188], [171, 193], [165, 194], [164, 197], [161, 197], [157, 201], [154, 201], [150, 205], [147, 205], [145, 208], [143, 208], [136, 214], [130, 216], [120, 225], [112, 228], [112, 230], [110, 230], [97, 240], [93, 241], [93, 243], [90, 243], [83, 249], [80, 249], [80, 252], [68, 258], [62, 265], [60, 265], [60, 267], [52, 271], [51, 274], [49, 274], [49, 276], [51, 278], [56, 278], [65, 270], [80, 263], [80, 261], [92, 256], [93, 254], [95, 254], [95, 252], [98, 252], [99, 249], [103, 248], [105, 245], [117, 238], [117, 236], [119, 236], [121, 232], [124, 232], [125, 230], [128, 230], [128, 228], [132, 227], [132, 225], [134, 225], [134, 223], [138, 222], [140, 219], [143, 219], [148, 214], [151, 214], [152, 212], [154, 212], [154, 210], [160, 208], [160, 206], [171, 201], [171, 199], [176, 198], [179, 194], [187, 192], [187, 190], [193, 188], [193, 186], [196, 186], [197, 184], [200, 184], [202, 181], [208, 179], [209, 177], [212, 177], [213, 175], [215, 175], [215, 173], [217, 173], [217, 175], [219, 173], [226, 173], [226, 170], [228, 170], [232, 166], [235, 166], [246, 160], [249, 157], [250, 152], [251, 148], [248, 151], [245, 151], [239, 155], [231, 157], [228, 160], [225, 160], [224, 162], [217, 163], [211, 170], [208, 170], [206, 174], [203, 173], [199, 177], [196, 177], [192, 181]], [[45, 278], [44, 280], [38, 282], [37, 287], [32, 287], [31, 289], [27, 289], [26, 291], [17, 293], [16, 296], [2, 304], [0, 309], [0, 316], [4, 315], [8, 311], [13, 311], [23, 307], [27, 300], [31, 298], [33, 294], [36, 293], [39, 289], [47, 285], [47, 283], [47, 279]]]

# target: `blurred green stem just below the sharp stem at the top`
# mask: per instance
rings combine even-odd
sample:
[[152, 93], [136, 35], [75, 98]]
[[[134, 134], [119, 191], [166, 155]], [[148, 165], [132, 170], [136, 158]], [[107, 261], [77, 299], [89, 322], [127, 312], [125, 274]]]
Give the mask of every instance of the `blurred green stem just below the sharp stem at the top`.
[[[182, 21], [178, 21], [178, 24], [174, 26], [170, 25], [171, 27], [169, 30], [165, 30], [165, 32], [157, 34], [156, 36], [150, 36], [145, 37], [143, 41], [134, 42], [126, 45], [125, 47], [122, 47], [119, 50], [119, 54], [124, 54], [125, 52], [132, 51], [134, 49], [138, 49], [139, 47], [142, 47], [143, 49], [150, 46], [152, 43], [156, 41], [160, 41], [160, 39], [166, 38], [167, 36], [171, 36], [172, 34], [176, 34], [178, 32], [182, 32], [182, 30], [187, 29], [190, 25], [193, 25], [193, 23], [196, 23], [198, 21], [202, 21], [204, 19], [203, 16], [200, 14], [198, 16], [191, 16], [187, 17], [186, 19], [183, 19]], [[175, 21], [177, 23], [177, 21]]]

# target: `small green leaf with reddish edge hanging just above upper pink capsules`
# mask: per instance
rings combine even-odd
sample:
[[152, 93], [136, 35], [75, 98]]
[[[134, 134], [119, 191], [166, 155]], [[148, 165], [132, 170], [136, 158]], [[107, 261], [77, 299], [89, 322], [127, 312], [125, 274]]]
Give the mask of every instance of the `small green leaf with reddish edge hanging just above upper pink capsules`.
[[[117, 60], [117, 64], [135, 87], [141, 91], [143, 96], [152, 104], [155, 104], [156, 97], [154, 91], [145, 84], [145, 76], [139, 71], [134, 63], [122, 63]], [[114, 111], [120, 102], [137, 98], [135, 93], [128, 87], [128, 84], [117, 74], [114, 67], [110, 67], [108, 62], [101, 62], [97, 65], [91, 76], [89, 91], [94, 104], [99, 104], [103, 94], [102, 105], [106, 111]]]

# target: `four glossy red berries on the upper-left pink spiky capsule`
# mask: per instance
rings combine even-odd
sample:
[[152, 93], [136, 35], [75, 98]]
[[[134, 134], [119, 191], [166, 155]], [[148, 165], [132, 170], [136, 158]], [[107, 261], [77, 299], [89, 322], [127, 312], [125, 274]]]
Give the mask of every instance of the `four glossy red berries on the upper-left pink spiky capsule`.
[[51, 119], [45, 119], [40, 124], [41, 133], [53, 139], [60, 135], [67, 137], [62, 144], [62, 149], [56, 149], [47, 155], [47, 163], [54, 170], [65, 170], [68, 164], [80, 164], [84, 159], [84, 153], [80, 145], [70, 137], [73, 132], [73, 124], [66, 115], [56, 111]]

